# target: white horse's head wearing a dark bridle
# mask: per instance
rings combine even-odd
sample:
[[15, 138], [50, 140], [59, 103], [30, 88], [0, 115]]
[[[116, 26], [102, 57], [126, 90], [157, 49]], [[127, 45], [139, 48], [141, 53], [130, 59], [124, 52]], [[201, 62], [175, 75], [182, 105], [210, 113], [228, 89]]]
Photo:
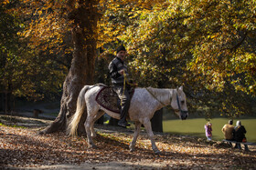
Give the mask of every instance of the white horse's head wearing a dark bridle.
[[185, 120], [187, 119], [188, 111], [186, 95], [183, 92], [183, 86], [176, 88], [174, 91], [176, 92], [173, 93], [171, 106], [175, 110], [176, 115], [178, 115], [180, 119]]

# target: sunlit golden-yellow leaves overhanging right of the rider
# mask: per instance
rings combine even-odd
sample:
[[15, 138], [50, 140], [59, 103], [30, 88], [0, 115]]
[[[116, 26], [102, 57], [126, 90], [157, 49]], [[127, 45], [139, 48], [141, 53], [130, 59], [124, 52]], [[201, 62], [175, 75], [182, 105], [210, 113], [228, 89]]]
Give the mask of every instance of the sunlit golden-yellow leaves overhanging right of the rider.
[[[248, 72], [248, 66], [242, 64], [237, 72], [232, 58], [238, 53], [240, 57], [255, 55], [255, 2], [171, 1], [152, 5], [146, 11], [137, 9], [135, 14], [139, 17], [120, 37], [136, 56], [132, 65], [143, 70], [142, 77], [144, 72], [152, 72], [154, 77], [170, 69], [159, 65], [160, 61], [187, 60], [189, 55], [192, 57], [184, 71], [198, 76], [209, 90], [222, 91], [227, 80]], [[253, 61], [246, 64], [253, 67]], [[240, 85], [236, 88], [251, 94], [248, 87], [252, 89], [252, 85]]]

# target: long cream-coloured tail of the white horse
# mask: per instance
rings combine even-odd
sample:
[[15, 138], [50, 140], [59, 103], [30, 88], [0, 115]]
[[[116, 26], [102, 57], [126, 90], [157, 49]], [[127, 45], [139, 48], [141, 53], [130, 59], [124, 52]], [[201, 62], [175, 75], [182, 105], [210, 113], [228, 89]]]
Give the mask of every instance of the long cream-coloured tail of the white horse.
[[86, 103], [85, 103], [84, 95], [90, 87], [91, 87], [90, 85], [85, 85], [80, 91], [80, 95], [77, 100], [76, 113], [74, 115], [72, 115], [72, 117], [69, 121], [69, 126], [68, 126], [68, 134], [71, 136], [78, 135], [77, 129], [78, 129], [78, 125], [80, 123], [81, 115], [86, 114], [86, 117], [87, 117]]

